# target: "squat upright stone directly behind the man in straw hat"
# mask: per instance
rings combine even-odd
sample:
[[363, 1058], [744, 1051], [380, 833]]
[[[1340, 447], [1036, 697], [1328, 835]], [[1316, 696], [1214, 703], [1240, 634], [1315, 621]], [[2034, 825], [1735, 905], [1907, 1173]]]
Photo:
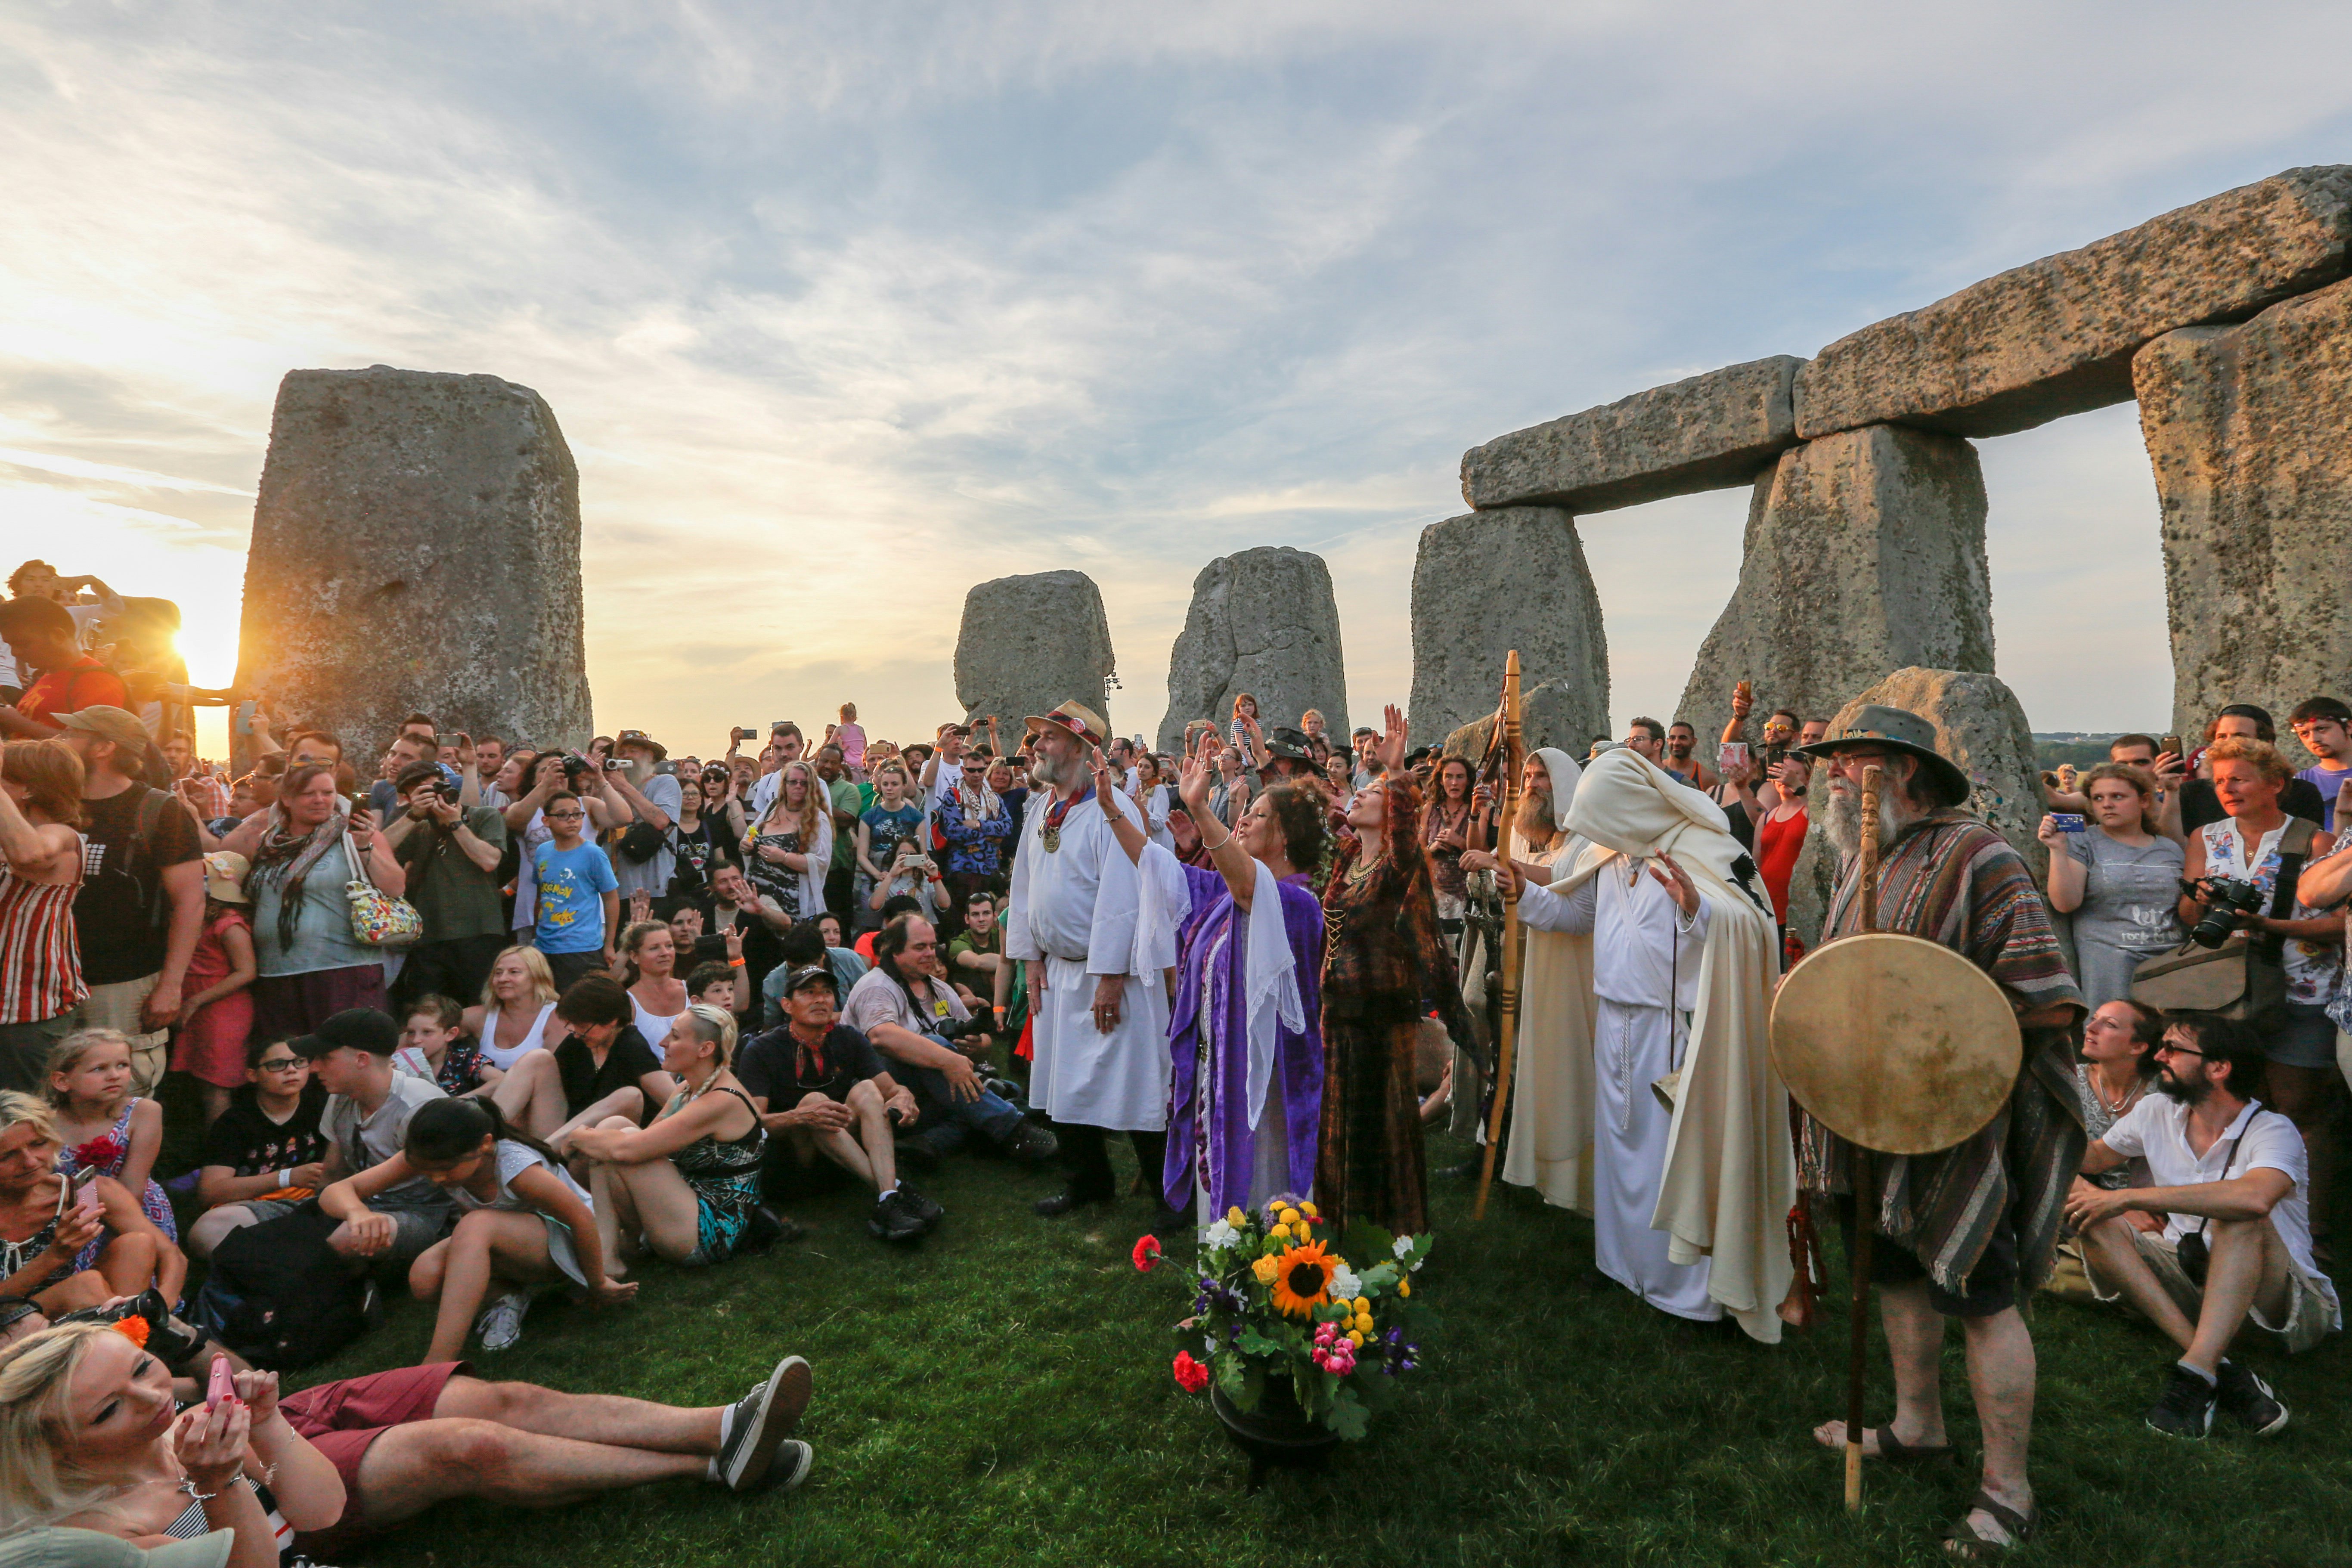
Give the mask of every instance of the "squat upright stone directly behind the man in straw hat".
[[1103, 696], [1115, 668], [1103, 590], [1084, 571], [1000, 576], [964, 595], [955, 701], [967, 722], [1002, 719], [1007, 745], [1023, 717], [1070, 698], [1117, 724]]

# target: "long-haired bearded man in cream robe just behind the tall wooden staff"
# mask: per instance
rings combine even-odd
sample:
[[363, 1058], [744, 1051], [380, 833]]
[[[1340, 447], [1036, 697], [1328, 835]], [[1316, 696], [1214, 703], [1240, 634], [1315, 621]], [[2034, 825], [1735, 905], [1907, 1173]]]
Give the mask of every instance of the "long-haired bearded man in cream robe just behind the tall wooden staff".
[[[1557, 748], [1536, 757], [1550, 776], [1550, 820], [1557, 827], [1583, 769]], [[1545, 849], [1519, 837], [1512, 825], [1510, 856], [1522, 865], [1576, 865], [1585, 842], [1566, 830]], [[1510, 1138], [1503, 1145], [1503, 1180], [1534, 1187], [1545, 1204], [1592, 1213], [1592, 936], [1555, 931], [1526, 919], [1519, 959], [1519, 1044], [1510, 1079]], [[1484, 1135], [1484, 1128], [1479, 1128]]]

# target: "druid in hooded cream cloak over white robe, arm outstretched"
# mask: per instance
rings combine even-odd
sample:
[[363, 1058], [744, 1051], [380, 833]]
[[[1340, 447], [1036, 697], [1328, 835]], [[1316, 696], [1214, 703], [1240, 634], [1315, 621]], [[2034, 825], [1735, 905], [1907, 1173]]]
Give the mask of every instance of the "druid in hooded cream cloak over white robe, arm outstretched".
[[[1635, 1166], [1621, 1190], [1630, 1190], [1635, 1180], [1656, 1182], [1649, 1229], [1663, 1232], [1665, 1260], [1679, 1267], [1705, 1260], [1708, 1300], [1731, 1314], [1750, 1338], [1778, 1342], [1778, 1305], [1790, 1286], [1785, 1225], [1797, 1197], [1797, 1164], [1788, 1131], [1788, 1088], [1771, 1067], [1769, 1009], [1780, 966], [1771, 914], [1759, 896], [1743, 886], [1752, 875], [1743, 877], [1748, 867], [1740, 865], [1743, 853], [1722, 806], [1639, 752], [1602, 752], [1585, 769], [1564, 825], [1588, 839], [1588, 849], [1578, 853], [1573, 870], [1552, 879], [1550, 889], [1531, 886], [1522, 893], [1519, 919], [1526, 924], [1538, 919], [1573, 924], [1562, 905], [1604, 875], [1628, 893], [1646, 884], [1672, 912], [1665, 889], [1646, 875], [1646, 863], [1661, 853], [1670, 853], [1698, 889], [1698, 917], [1682, 922], [1675, 912], [1677, 926], [1691, 929], [1663, 950], [1672, 990], [1684, 992], [1684, 976], [1693, 969], [1689, 947], [1696, 945], [1691, 990], [1672, 997], [1679, 1006], [1668, 1006], [1668, 985], [1642, 992], [1653, 1011], [1689, 1013], [1686, 1025], [1672, 1025], [1675, 1034], [1653, 1041], [1668, 1046], [1679, 1041], [1679, 1058], [1670, 1058], [1679, 1060], [1679, 1072], [1668, 1084], [1672, 1114], [1665, 1143], [1656, 1152], [1656, 1175], [1646, 1173], [1649, 1154], [1642, 1154], [1644, 1166]], [[1625, 860], [1644, 865], [1628, 879]], [[1595, 889], [1595, 917], [1609, 919], [1602, 896], [1604, 889]], [[1649, 900], [1649, 893], [1642, 898]], [[1646, 929], [1639, 903], [1628, 905], [1623, 914]], [[1642, 940], [1663, 947], [1656, 933]], [[1656, 959], [1661, 950], [1646, 957]], [[1632, 978], [1628, 971], [1621, 983]], [[1602, 1039], [1604, 1001], [1595, 976], [1595, 990], [1585, 992], [1583, 1006], [1595, 1020], [1599, 1065], [1611, 1074], [1625, 1072], [1630, 1093], [1653, 1093], [1651, 1081], [1642, 1077], [1642, 1063], [1611, 1058], [1609, 1041]], [[1661, 1060], [1656, 1074], [1668, 1072], [1670, 1065]], [[1595, 1131], [1606, 1126], [1604, 1110], [1595, 1084], [1585, 1112]], [[1599, 1154], [1606, 1157], [1609, 1152]], [[1599, 1222], [1602, 1208], [1595, 1206], [1595, 1227]], [[1623, 1239], [1623, 1229], [1618, 1234]], [[1686, 1300], [1672, 1291], [1670, 1295]]]

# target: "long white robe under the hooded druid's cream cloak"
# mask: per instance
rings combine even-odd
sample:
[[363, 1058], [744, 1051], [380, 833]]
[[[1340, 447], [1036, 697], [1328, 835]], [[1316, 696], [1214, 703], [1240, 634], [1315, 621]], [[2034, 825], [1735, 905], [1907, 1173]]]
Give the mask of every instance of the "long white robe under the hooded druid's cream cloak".
[[1651, 1229], [1675, 1124], [1651, 1084], [1682, 1067], [1708, 914], [1700, 900], [1684, 919], [1646, 863], [1625, 858], [1611, 858], [1566, 898], [1543, 886], [1519, 896], [1526, 926], [1592, 933], [1595, 1262], [1651, 1307], [1700, 1321], [1724, 1316], [1708, 1293], [1708, 1260], [1675, 1262], [1672, 1237]]

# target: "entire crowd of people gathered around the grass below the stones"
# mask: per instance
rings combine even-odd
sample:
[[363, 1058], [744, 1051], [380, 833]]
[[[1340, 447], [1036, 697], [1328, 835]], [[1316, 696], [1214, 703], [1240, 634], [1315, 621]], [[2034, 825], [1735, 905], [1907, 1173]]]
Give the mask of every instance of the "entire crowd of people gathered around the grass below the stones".
[[[1247, 696], [1171, 755], [1068, 701], [903, 745], [842, 705], [715, 757], [412, 712], [360, 757], [188, 693], [240, 703], [238, 766], [214, 769], [89, 649], [103, 583], [42, 571], [0, 604], [0, 1441], [38, 1455], [0, 1479], [14, 1521], [230, 1528], [261, 1563], [449, 1495], [795, 1483], [800, 1359], [673, 1410], [461, 1356], [513, 1345], [548, 1291], [626, 1307], [654, 1260], [793, 1241], [828, 1190], [915, 1244], [948, 1215], [910, 1178], [948, 1159], [1058, 1168], [1047, 1220], [1120, 1204], [1117, 1135], [1157, 1234], [1312, 1194], [1402, 1237], [1465, 1173], [1425, 1168], [1425, 1128], [1503, 1126], [1503, 1178], [1590, 1213], [1604, 1274], [1757, 1342], [1804, 1316], [1759, 1237], [1792, 1204], [1870, 1225], [1896, 1415], [1863, 1446], [1945, 1446], [1922, 1347], [1962, 1319], [1985, 1425], [1964, 1554], [2032, 1530], [2025, 1293], [2079, 1281], [2171, 1338], [2150, 1422], [2183, 1436], [2284, 1427], [2232, 1347], [2340, 1326], [2333, 698], [2291, 715], [2319, 759], [2300, 773], [2258, 708], [2051, 773], [2044, 891], [1962, 809], [1933, 726], [1863, 710], [1832, 736], [1745, 682], [1708, 757], [1637, 717], [1515, 776], [1501, 748], [1416, 748], [1395, 708], [1341, 738]], [[1818, 938], [1858, 929], [1863, 766], [1886, 778], [1879, 929], [1957, 947], [2027, 1041], [1999, 1133], [1879, 1159], [1870, 1194], [1762, 1037], [1816, 835], [1842, 867]], [[2241, 957], [2239, 1004], [2152, 999], [2192, 931]], [[193, 1159], [165, 1157], [165, 1098]], [[261, 1265], [327, 1302], [407, 1286], [435, 1314], [423, 1363], [280, 1401], [233, 1342]], [[106, 1328], [125, 1314], [186, 1347], [139, 1354]], [[181, 1387], [174, 1415], [174, 1378], [223, 1356], [233, 1394]], [[379, 1441], [400, 1465], [362, 1486]]]

